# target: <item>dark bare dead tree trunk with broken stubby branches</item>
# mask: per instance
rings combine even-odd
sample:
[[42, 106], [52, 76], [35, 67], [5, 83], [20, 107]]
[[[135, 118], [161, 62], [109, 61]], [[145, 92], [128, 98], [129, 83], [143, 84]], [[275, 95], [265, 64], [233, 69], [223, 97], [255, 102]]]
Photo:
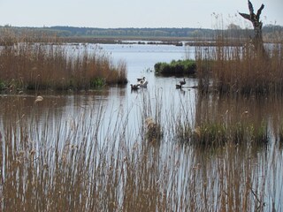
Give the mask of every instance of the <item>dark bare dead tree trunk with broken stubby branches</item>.
[[261, 5], [261, 7], [257, 10], [256, 14], [254, 13], [253, 4], [251, 4], [249, 0], [248, 0], [248, 4], [249, 4], [249, 14], [241, 13], [241, 12], [239, 12], [239, 14], [244, 19], [249, 19], [249, 21], [252, 22], [255, 32], [253, 43], [255, 45], [256, 50], [263, 50], [263, 54], [265, 55], [263, 34], [262, 34], [263, 22], [260, 21], [260, 15], [264, 10], [264, 4]]

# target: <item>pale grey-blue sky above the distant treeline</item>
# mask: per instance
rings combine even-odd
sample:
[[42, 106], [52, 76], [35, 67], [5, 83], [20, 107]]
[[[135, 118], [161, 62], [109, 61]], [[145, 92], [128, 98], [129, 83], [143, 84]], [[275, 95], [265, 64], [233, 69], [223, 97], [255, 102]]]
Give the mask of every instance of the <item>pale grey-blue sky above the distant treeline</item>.
[[[283, 0], [252, 0], [265, 5], [264, 24], [283, 26]], [[238, 11], [247, 0], [0, 0], [0, 26], [14, 27], [251, 27]]]

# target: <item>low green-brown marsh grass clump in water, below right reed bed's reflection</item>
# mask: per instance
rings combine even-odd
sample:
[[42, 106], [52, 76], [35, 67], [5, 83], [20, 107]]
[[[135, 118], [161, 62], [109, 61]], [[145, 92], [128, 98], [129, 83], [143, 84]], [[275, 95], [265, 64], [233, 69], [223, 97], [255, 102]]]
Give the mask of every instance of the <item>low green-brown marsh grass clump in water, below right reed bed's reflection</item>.
[[227, 144], [242, 146], [265, 146], [270, 137], [266, 123], [255, 126], [255, 123], [238, 122], [226, 125], [218, 121], [203, 121], [196, 127], [184, 126], [179, 129], [179, 140], [182, 144], [195, 148], [221, 148]]

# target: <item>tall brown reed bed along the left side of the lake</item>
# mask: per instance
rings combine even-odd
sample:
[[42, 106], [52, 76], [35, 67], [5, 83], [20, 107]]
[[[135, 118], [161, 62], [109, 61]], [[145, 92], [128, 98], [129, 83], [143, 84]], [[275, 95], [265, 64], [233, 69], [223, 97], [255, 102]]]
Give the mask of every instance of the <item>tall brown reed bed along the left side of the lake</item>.
[[[5, 32], [0, 49], [2, 89], [90, 89], [105, 84], [125, 84], [126, 63], [113, 64], [111, 57], [85, 46], [73, 54], [61, 42], [27, 42]], [[71, 52], [70, 52], [71, 51]]]

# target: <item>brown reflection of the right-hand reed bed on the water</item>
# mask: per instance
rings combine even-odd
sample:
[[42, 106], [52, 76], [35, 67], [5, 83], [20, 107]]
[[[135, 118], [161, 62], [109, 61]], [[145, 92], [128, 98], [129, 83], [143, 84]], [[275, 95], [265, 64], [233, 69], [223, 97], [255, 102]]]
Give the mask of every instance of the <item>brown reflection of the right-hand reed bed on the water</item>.
[[273, 127], [279, 125], [282, 115], [282, 98], [278, 96], [218, 96], [198, 95], [196, 102], [196, 122], [218, 120], [236, 123], [243, 119], [259, 125], [263, 120], [271, 122]]

